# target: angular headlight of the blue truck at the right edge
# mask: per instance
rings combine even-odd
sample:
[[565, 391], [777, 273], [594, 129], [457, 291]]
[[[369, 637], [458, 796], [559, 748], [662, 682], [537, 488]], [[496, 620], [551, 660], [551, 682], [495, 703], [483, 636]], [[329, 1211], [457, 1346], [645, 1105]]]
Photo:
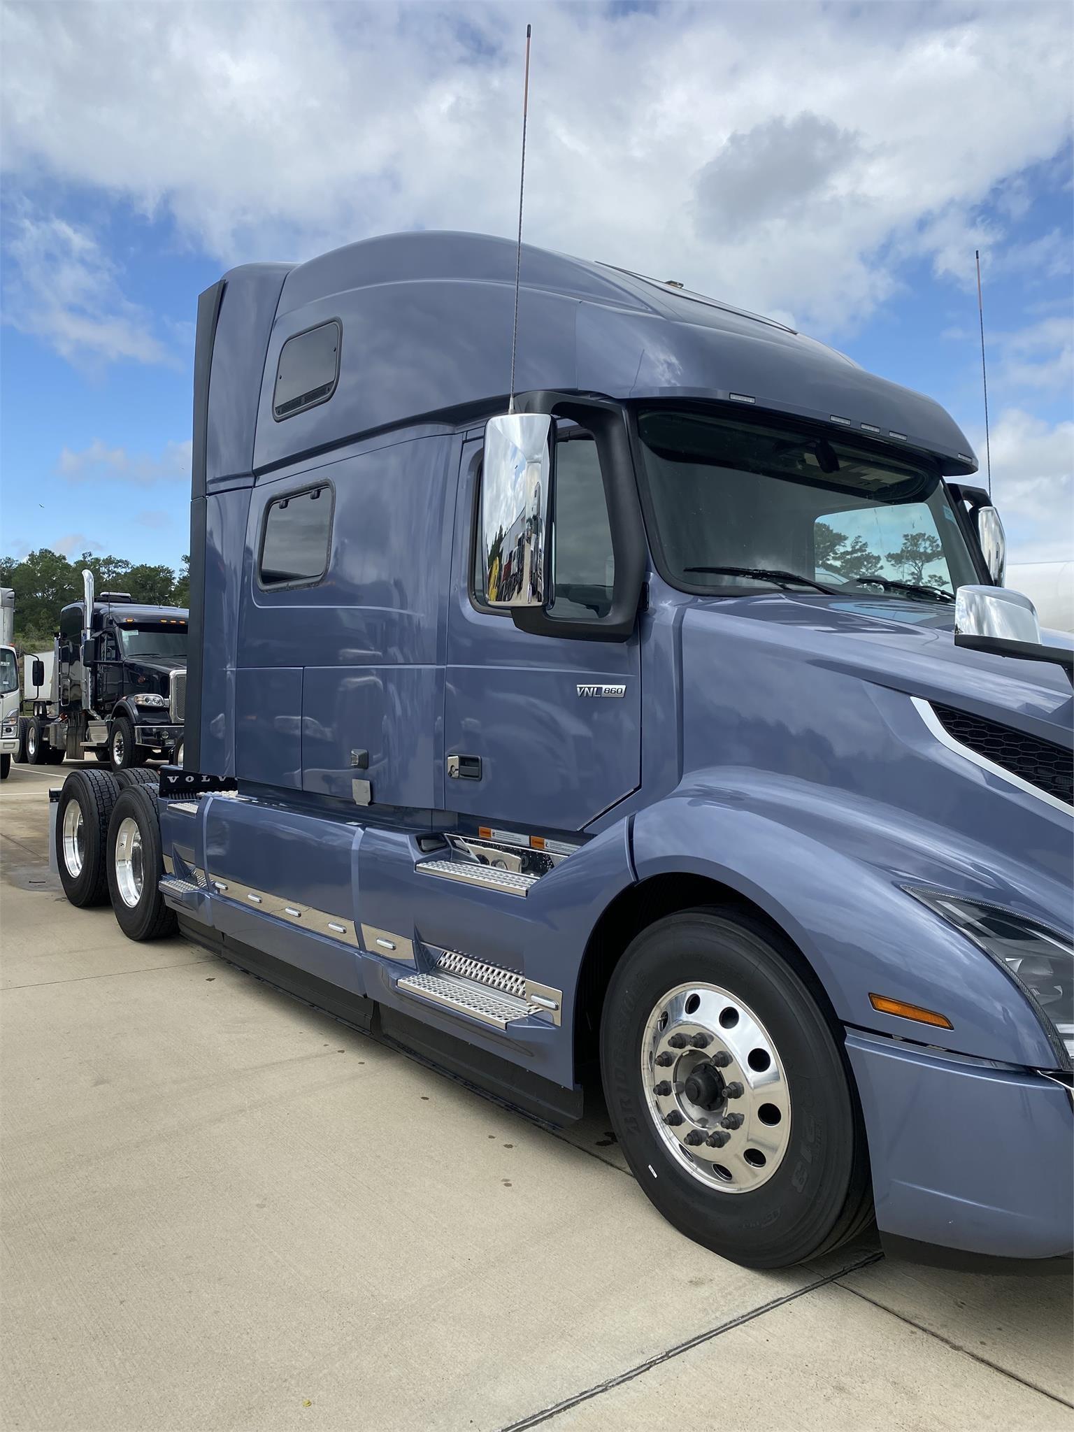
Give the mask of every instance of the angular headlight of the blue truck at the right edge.
[[1074, 945], [1068, 937], [998, 905], [911, 886], [906, 894], [942, 915], [1014, 979], [1037, 1007], [1060, 1068], [1070, 1068], [1074, 1060]]

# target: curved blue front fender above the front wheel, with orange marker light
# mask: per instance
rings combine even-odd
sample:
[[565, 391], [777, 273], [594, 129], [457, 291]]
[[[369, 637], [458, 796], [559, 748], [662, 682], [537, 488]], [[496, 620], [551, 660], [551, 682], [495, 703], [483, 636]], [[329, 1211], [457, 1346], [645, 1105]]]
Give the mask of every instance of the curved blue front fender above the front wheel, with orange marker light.
[[[1028, 1000], [974, 944], [901, 886], [1024, 905], [1042, 876], [845, 790], [759, 772], [695, 772], [634, 818], [637, 878], [680, 872], [730, 886], [798, 945], [843, 1024], [977, 1058], [1051, 1068]], [[1004, 888], [1018, 899], [1004, 901]], [[945, 1014], [952, 1030], [876, 1012], [869, 994]]]

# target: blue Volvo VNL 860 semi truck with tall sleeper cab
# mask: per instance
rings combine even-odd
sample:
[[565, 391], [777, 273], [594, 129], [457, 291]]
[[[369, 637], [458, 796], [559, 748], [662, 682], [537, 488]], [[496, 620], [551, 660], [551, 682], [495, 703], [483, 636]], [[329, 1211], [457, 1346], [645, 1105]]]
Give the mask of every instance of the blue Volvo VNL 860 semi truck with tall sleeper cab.
[[200, 296], [183, 768], [69, 898], [554, 1124], [755, 1267], [1071, 1243], [1071, 674], [934, 401], [514, 245]]

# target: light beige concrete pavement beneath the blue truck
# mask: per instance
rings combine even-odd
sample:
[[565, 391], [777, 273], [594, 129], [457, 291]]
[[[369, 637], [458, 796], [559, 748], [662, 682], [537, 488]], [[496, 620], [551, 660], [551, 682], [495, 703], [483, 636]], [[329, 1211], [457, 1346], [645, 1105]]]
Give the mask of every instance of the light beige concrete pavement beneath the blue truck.
[[547, 1133], [47, 871], [0, 786], [4, 1429], [1074, 1428], [1065, 1277], [752, 1273]]

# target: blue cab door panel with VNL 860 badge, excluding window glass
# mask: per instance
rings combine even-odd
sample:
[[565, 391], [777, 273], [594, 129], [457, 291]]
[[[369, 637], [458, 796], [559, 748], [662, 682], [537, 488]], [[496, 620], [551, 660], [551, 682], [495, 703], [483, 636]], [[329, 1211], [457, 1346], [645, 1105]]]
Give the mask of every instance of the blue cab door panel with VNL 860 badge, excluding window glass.
[[[640, 783], [639, 643], [576, 640], [610, 606], [611, 536], [597, 445], [556, 451], [554, 603], [564, 636], [520, 632], [487, 606], [475, 558], [481, 440], [463, 448], [444, 710], [444, 800], [501, 828], [580, 831]], [[531, 832], [533, 833], [533, 832]]]

